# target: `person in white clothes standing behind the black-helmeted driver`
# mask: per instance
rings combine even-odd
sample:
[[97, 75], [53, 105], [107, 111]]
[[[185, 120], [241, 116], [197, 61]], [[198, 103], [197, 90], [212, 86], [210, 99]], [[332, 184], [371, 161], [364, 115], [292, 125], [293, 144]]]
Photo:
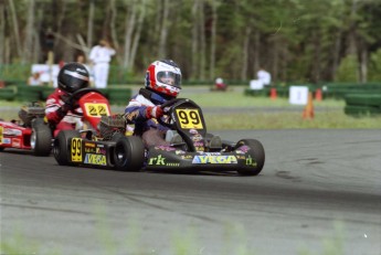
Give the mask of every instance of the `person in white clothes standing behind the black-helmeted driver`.
[[89, 60], [94, 67], [94, 82], [96, 88], [107, 87], [109, 62], [113, 55], [115, 55], [115, 50], [105, 39], [100, 40], [99, 44], [92, 49]]

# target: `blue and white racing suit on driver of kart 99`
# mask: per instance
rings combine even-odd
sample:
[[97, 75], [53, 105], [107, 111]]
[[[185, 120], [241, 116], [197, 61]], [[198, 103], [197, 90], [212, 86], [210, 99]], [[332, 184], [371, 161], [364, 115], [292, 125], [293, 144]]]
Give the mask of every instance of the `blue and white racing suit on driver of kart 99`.
[[152, 107], [161, 105], [169, 99], [171, 98], [166, 98], [147, 88], [140, 88], [139, 93], [131, 98], [125, 109], [127, 123], [135, 125], [134, 135], [140, 136], [146, 147], [169, 145], [165, 140], [168, 128], [158, 124], [156, 118], [149, 116]]

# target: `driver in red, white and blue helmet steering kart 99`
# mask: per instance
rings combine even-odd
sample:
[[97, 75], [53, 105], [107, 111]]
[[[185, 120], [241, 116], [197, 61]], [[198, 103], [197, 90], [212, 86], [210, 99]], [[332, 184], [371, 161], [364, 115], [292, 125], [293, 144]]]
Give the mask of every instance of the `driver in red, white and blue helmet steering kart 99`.
[[[181, 71], [172, 60], [155, 61], [148, 66], [145, 87], [140, 88], [125, 109], [127, 121], [135, 125], [134, 135], [140, 136], [147, 148], [182, 142], [179, 135], [167, 141], [165, 137], [168, 128], [156, 120], [163, 115], [160, 105], [176, 98], [180, 91]], [[214, 140], [221, 144], [220, 137]]]

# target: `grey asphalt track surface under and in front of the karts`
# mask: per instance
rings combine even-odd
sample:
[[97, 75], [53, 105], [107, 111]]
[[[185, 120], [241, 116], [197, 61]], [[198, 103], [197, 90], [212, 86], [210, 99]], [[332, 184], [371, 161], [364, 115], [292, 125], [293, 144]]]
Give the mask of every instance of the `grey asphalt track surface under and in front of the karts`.
[[1, 238], [22, 254], [381, 254], [380, 130], [215, 134], [261, 140], [263, 172], [118, 172], [1, 152]]

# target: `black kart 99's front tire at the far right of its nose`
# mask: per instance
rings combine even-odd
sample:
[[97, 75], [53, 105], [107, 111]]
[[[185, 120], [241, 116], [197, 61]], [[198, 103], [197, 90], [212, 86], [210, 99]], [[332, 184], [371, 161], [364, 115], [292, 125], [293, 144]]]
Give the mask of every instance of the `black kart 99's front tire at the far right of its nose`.
[[255, 160], [256, 164], [237, 169], [237, 172], [241, 176], [257, 176], [265, 164], [265, 150], [263, 148], [263, 145], [261, 144], [261, 141], [255, 139], [242, 139], [236, 144], [235, 148], [239, 148], [243, 145], [250, 147], [247, 153]]

